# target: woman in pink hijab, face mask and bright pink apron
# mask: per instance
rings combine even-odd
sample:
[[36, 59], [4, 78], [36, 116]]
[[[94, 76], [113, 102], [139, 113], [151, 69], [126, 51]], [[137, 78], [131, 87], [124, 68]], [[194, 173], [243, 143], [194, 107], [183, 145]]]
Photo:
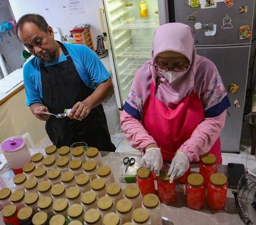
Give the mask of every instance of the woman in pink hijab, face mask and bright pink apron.
[[129, 144], [145, 153], [142, 166], [157, 176], [163, 160], [171, 161], [171, 182], [205, 153], [221, 164], [219, 136], [229, 106], [216, 66], [196, 54], [193, 31], [167, 23], [155, 32], [151, 61], [135, 74], [121, 128]]

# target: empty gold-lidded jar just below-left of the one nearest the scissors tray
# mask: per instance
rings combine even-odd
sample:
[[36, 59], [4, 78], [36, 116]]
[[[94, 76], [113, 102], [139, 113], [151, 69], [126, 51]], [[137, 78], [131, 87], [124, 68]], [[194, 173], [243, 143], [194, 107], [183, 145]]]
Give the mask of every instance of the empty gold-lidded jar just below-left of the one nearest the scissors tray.
[[133, 210], [132, 202], [129, 199], [122, 198], [116, 203], [116, 213], [123, 223], [132, 221]]

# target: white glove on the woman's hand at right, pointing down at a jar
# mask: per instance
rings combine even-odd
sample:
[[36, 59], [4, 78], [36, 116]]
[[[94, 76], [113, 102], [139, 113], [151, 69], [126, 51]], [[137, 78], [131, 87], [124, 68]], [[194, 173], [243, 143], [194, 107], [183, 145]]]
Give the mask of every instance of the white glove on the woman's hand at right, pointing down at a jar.
[[189, 168], [188, 156], [183, 152], [177, 152], [172, 159], [170, 169], [167, 173], [170, 176], [170, 183], [175, 179], [181, 177]]

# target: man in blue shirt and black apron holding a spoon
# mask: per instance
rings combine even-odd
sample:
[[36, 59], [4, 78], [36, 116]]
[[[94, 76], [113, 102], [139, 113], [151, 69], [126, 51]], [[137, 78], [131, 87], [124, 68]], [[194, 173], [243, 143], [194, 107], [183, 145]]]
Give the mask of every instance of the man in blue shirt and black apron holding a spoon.
[[[84, 141], [100, 151], [115, 151], [102, 101], [113, 91], [110, 74], [90, 48], [54, 40], [43, 16], [23, 15], [16, 32], [35, 57], [23, 69], [27, 105], [58, 148]], [[54, 114], [71, 109], [71, 118]]]

